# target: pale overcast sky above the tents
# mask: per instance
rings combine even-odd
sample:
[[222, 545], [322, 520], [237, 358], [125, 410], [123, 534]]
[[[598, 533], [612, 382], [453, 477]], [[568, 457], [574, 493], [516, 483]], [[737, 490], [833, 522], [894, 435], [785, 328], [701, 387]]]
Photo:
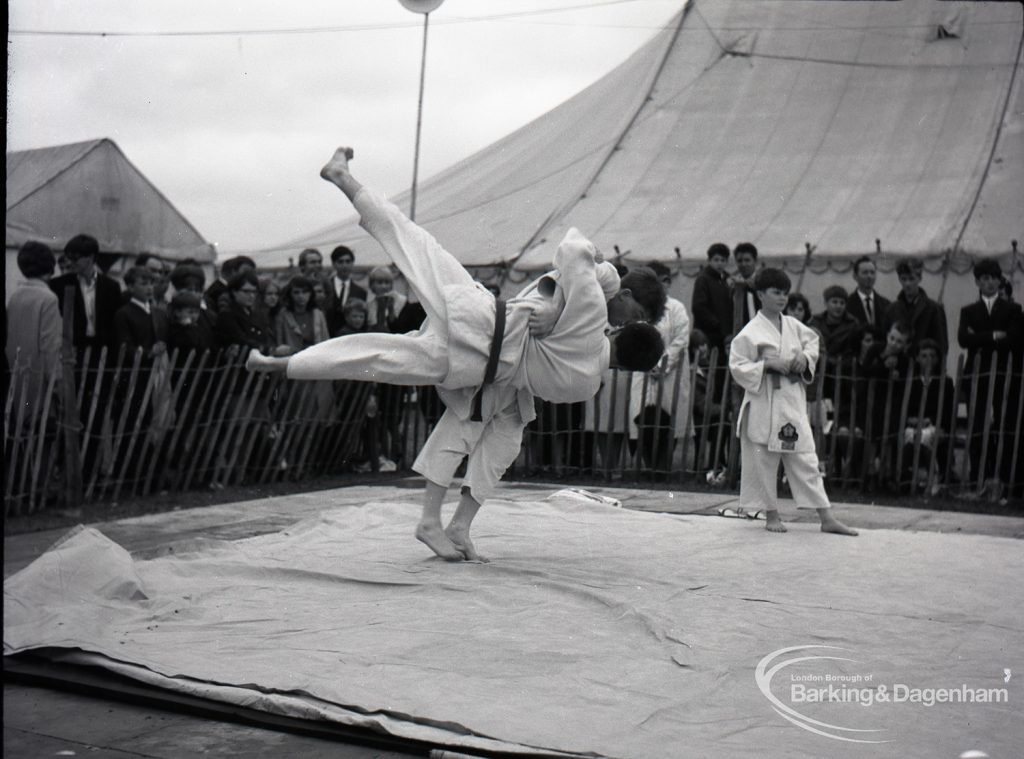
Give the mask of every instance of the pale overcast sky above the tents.
[[[430, 15], [421, 180], [599, 79], [681, 6], [446, 0]], [[411, 182], [423, 16], [398, 0], [8, 8], [7, 150], [110, 137], [221, 256], [346, 215], [316, 175], [338, 144], [368, 184]]]

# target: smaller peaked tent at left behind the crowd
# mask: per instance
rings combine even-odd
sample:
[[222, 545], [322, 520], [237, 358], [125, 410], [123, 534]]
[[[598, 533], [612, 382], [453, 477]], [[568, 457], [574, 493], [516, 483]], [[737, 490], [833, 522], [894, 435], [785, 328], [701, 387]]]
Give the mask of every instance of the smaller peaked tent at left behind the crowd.
[[[59, 251], [91, 235], [103, 254], [193, 258], [212, 273], [214, 247], [110, 139], [7, 154], [7, 295], [22, 279], [17, 249], [29, 240]], [[124, 260], [124, 259], [122, 259]]]

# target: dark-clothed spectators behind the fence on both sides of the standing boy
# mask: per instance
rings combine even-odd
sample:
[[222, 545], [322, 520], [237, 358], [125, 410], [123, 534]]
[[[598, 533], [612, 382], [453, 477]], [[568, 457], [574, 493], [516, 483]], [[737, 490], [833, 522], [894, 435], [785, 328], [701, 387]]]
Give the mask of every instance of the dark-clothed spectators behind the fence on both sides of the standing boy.
[[[720, 400], [714, 406], [694, 405], [698, 425], [707, 421], [703, 415], [710, 409], [719, 415], [716, 419], [730, 418], [730, 406], [734, 408], [738, 397], [723, 391], [728, 384], [725, 356], [731, 337], [759, 308], [750, 286], [757, 249], [740, 243], [733, 257], [736, 271], [730, 277], [729, 248], [712, 245], [708, 265], [694, 282], [691, 343], [699, 336], [696, 344], [707, 345], [719, 356], [716, 371], [707, 374], [698, 369], [700, 394], [707, 396], [710, 388], [712, 397]], [[963, 402], [971, 425], [969, 479], [984, 483], [994, 498], [1004, 494], [1013, 464], [1012, 446], [1005, 444], [1019, 423], [1015, 412], [1021, 392], [1024, 314], [998, 263], [977, 261], [973, 273], [979, 297], [962, 308], [958, 320], [957, 343], [967, 350], [967, 361], [957, 397], [953, 379], [944, 373], [950, 347], [946, 314], [922, 288], [923, 270], [921, 259], [901, 258], [896, 265], [899, 292], [891, 301], [876, 290], [878, 269], [870, 256], [854, 261], [856, 287], [851, 291], [838, 285], [824, 289], [820, 312], [812, 312], [806, 295], [791, 293], [786, 313], [820, 337], [823, 361], [818, 372], [823, 381], [808, 387], [809, 415], [821, 435], [833, 435], [836, 444], [828, 447], [823, 441], [819, 458], [828, 468], [826, 473], [835, 476], [847, 473], [844, 466], [847, 470], [866, 466], [869, 472], [887, 471], [890, 487], [914, 478], [948, 484], [957, 476], [948, 465], [948, 453], [956, 406]], [[990, 392], [992, 387], [998, 391]], [[903, 427], [894, 429], [897, 423]], [[893, 445], [880, 445], [887, 435], [894, 438]], [[723, 448], [727, 446], [728, 441]], [[874, 453], [865, 462], [867, 446]], [[725, 450], [713, 450], [706, 463], [709, 481], [724, 480], [726, 461]], [[929, 476], [929, 468], [936, 476]]]

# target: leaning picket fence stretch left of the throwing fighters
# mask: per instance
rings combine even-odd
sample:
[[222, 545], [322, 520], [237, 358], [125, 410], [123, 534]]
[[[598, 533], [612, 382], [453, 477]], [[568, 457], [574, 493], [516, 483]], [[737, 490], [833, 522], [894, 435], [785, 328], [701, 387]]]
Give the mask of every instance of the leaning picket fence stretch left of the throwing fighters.
[[86, 349], [69, 373], [12, 368], [8, 515], [335, 471], [359, 445], [372, 390], [253, 374], [237, 350], [152, 362]]

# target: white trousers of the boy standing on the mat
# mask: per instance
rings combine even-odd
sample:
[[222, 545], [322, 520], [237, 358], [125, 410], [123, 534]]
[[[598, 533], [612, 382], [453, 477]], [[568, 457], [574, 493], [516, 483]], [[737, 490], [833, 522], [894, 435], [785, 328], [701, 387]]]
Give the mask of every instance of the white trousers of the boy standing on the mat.
[[797, 506], [827, 509], [828, 496], [813, 453], [780, 454], [745, 437], [740, 441], [739, 505], [748, 511], [778, 510], [778, 463], [782, 460]]

